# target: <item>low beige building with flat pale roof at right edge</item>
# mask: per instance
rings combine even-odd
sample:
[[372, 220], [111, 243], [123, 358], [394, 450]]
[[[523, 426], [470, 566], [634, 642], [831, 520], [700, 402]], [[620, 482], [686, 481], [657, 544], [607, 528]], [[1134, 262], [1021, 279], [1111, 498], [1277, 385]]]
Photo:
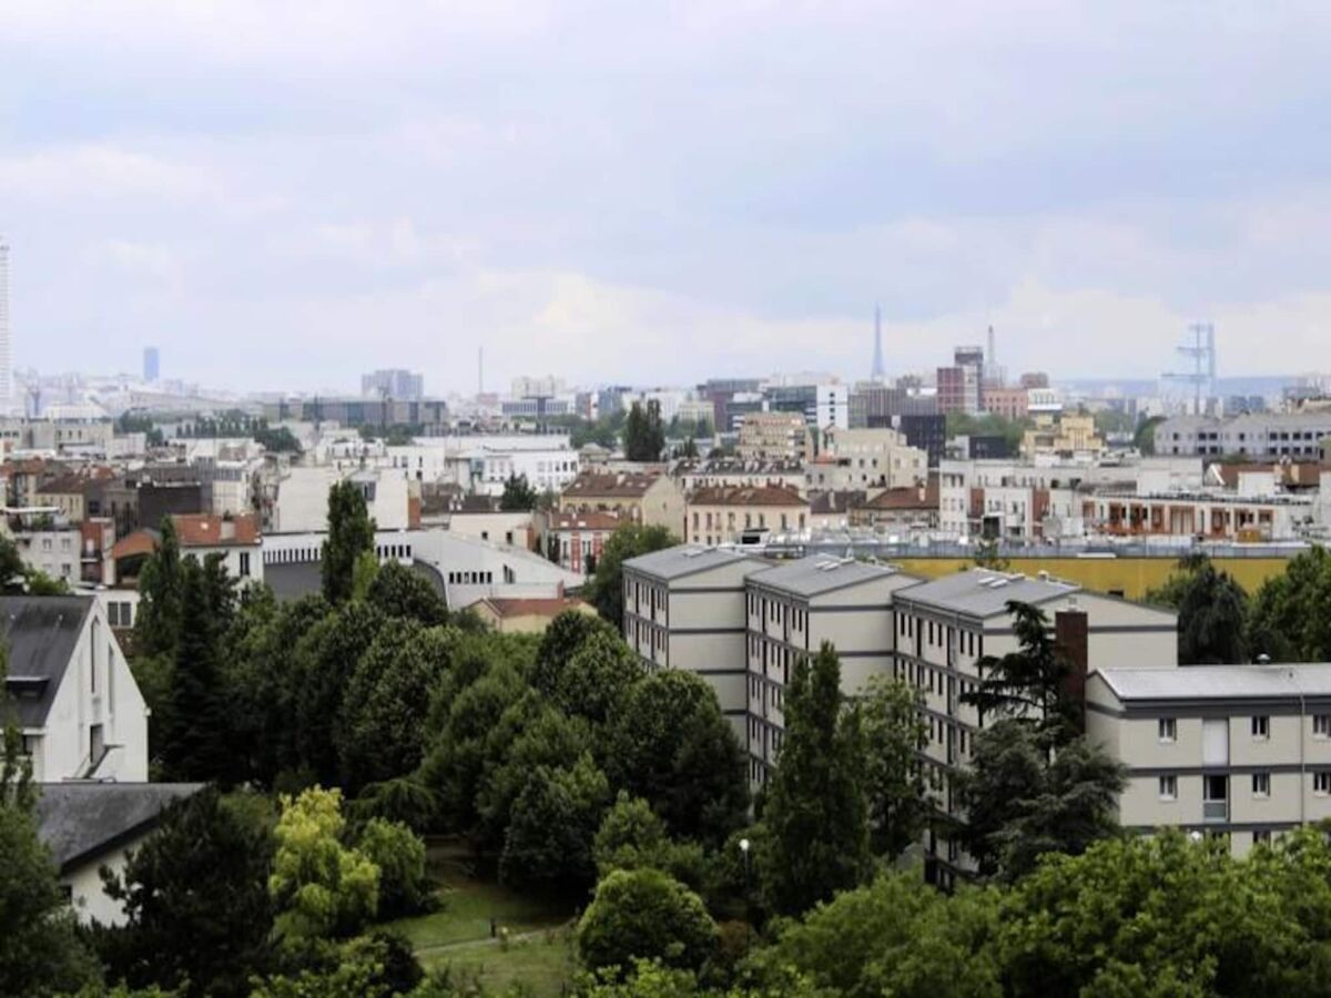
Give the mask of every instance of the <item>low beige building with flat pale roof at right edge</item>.
[[1127, 768], [1130, 832], [1222, 834], [1243, 856], [1331, 818], [1331, 665], [1101, 668], [1086, 733]]

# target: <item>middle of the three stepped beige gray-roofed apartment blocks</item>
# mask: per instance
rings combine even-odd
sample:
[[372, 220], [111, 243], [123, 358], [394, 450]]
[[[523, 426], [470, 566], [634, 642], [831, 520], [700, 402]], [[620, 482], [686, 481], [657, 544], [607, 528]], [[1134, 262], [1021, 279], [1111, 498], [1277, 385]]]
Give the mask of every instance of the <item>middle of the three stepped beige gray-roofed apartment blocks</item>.
[[749, 780], [767, 781], [785, 733], [785, 687], [801, 657], [824, 643], [841, 659], [841, 689], [862, 693], [870, 679], [892, 676], [892, 601], [917, 584], [889, 566], [827, 556], [804, 558], [745, 579]]

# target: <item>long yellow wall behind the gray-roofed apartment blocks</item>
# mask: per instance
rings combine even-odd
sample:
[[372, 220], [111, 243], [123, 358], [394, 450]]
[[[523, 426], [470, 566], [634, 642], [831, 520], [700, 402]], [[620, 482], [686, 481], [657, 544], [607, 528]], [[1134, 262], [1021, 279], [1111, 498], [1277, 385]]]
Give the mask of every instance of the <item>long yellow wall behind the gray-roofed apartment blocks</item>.
[[[1272, 575], [1284, 572], [1284, 558], [1217, 558], [1215, 567], [1229, 572], [1248, 592]], [[1121, 591], [1127, 599], [1142, 599], [1147, 589], [1158, 588], [1178, 567], [1175, 558], [1012, 558], [1010, 571], [1078, 583], [1097, 592]], [[964, 558], [906, 558], [893, 564], [925, 579], [960, 572], [974, 563]]]

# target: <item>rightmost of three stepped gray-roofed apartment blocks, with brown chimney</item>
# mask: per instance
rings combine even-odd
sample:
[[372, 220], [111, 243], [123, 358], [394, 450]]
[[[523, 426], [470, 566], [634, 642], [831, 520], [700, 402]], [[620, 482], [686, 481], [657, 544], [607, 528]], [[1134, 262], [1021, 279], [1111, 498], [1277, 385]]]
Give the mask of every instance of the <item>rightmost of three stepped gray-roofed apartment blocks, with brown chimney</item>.
[[[1017, 651], [1009, 603], [1038, 607], [1082, 672], [1134, 661], [1178, 663], [1174, 613], [1102, 596], [1050, 578], [973, 570], [893, 593], [897, 676], [924, 696], [929, 741], [922, 753], [938, 809], [964, 818], [954, 797], [957, 770], [973, 753], [984, 719], [962, 703], [980, 683], [985, 656]], [[930, 832], [930, 869], [942, 882], [969, 868], [960, 845]]]

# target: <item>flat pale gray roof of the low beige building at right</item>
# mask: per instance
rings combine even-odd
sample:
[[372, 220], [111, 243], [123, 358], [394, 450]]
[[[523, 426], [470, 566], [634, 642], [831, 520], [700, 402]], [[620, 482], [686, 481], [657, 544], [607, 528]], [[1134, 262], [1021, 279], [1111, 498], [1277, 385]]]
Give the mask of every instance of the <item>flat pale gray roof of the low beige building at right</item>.
[[1099, 669], [1114, 695], [1131, 700], [1235, 700], [1331, 696], [1331, 664], [1179, 665]]

